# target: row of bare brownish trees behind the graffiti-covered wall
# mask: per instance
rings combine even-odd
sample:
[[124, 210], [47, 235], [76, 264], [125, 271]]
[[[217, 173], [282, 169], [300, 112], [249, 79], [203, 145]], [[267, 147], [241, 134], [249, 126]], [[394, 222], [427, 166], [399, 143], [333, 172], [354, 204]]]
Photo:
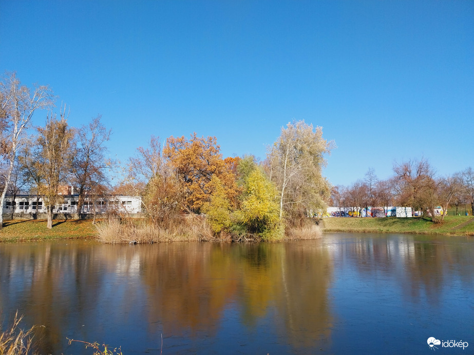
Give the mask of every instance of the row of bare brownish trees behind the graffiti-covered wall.
[[334, 207], [356, 207], [362, 216], [362, 209], [389, 206], [411, 207], [430, 216], [432, 222], [442, 222], [445, 213], [437, 216], [434, 211], [441, 206], [458, 208], [470, 205], [474, 215], [474, 170], [471, 167], [440, 176], [425, 158], [407, 160], [393, 165], [393, 175], [379, 180], [373, 168], [369, 168], [363, 179], [357, 179], [349, 186], [331, 187], [331, 205]]

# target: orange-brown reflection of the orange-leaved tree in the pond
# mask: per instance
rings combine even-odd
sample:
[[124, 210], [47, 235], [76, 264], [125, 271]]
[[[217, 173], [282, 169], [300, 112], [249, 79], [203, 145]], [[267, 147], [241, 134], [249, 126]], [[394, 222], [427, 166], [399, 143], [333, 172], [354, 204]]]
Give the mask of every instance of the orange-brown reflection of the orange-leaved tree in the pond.
[[220, 248], [210, 243], [175, 243], [141, 250], [150, 324], [161, 322], [168, 335], [215, 333], [236, 288], [230, 258]]

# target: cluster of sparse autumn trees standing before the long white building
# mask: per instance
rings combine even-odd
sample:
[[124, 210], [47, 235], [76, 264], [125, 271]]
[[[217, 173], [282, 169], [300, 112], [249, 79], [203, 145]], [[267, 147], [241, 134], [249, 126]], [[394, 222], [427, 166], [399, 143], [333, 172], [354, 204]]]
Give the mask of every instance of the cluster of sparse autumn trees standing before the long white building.
[[[78, 211], [86, 195], [100, 195], [108, 189], [106, 142], [111, 131], [98, 115], [80, 128], [67, 123], [66, 106], [59, 116], [54, 113], [56, 97], [48, 86], [22, 85], [15, 73], [0, 81], [0, 205], [5, 196], [28, 192], [41, 198], [47, 212], [47, 226], [52, 228], [54, 206], [62, 203], [60, 192], [72, 185], [79, 192]], [[47, 112], [44, 126], [32, 126], [35, 111]], [[0, 213], [0, 229], [3, 213]]]

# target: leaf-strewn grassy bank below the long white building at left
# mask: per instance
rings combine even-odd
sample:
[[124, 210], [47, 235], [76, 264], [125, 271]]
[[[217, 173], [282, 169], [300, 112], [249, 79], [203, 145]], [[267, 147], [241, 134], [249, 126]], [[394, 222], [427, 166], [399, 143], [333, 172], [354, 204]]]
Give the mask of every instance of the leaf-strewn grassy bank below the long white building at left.
[[46, 227], [46, 220], [13, 220], [4, 222], [0, 242], [78, 239], [96, 235], [92, 220], [54, 220], [52, 229]]

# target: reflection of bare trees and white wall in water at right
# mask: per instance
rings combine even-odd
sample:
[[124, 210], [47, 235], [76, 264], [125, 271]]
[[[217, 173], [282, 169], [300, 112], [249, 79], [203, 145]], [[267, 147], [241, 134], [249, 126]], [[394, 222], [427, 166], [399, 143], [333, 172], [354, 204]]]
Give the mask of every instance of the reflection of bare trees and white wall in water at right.
[[383, 275], [399, 283], [407, 299], [420, 301], [422, 295], [439, 304], [441, 290], [455, 275], [472, 283], [469, 249], [445, 237], [412, 235], [361, 236], [354, 243], [341, 244], [340, 253], [354, 262], [355, 269], [369, 281]]

